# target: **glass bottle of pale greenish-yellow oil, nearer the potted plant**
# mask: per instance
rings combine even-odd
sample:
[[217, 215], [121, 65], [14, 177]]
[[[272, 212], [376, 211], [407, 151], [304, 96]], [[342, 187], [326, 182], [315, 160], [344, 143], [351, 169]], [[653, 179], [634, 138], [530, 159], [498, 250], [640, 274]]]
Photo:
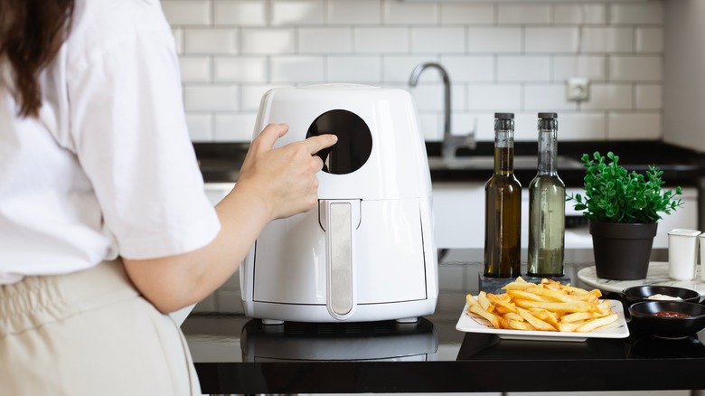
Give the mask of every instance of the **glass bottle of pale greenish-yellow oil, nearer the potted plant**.
[[529, 184], [527, 274], [563, 276], [566, 184], [558, 174], [558, 115], [539, 113], [539, 170]]

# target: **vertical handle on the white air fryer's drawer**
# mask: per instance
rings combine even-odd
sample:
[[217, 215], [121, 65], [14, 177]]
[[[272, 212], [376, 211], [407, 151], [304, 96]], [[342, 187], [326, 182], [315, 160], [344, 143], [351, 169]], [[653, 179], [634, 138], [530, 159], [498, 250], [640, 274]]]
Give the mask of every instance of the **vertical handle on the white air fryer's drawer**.
[[318, 208], [325, 231], [325, 306], [331, 316], [344, 320], [356, 306], [353, 234], [360, 223], [360, 200], [321, 200]]

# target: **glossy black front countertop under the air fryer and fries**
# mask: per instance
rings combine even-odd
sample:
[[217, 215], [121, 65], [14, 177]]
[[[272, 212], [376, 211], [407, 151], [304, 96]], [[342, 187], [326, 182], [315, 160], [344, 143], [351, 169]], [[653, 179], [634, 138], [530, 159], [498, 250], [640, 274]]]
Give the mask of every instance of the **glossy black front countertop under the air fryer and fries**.
[[[652, 259], [663, 260], [664, 250]], [[265, 326], [242, 314], [193, 314], [183, 323], [204, 393], [625, 391], [705, 389], [705, 335], [660, 340], [629, 325], [623, 339], [517, 341], [455, 325], [482, 252], [450, 250], [439, 265], [434, 315], [416, 325]], [[566, 276], [590, 250], [567, 250]], [[463, 281], [458, 282], [459, 278]], [[456, 286], [453, 286], [456, 285]], [[457, 286], [459, 285], [459, 286]], [[616, 296], [606, 294], [605, 297]]]

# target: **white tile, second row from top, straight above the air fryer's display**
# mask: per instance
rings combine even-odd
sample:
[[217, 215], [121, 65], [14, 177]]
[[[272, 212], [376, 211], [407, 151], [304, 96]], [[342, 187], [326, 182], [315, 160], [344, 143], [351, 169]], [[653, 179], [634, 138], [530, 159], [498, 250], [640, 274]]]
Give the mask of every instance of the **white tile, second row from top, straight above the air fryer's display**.
[[302, 27], [298, 30], [300, 53], [351, 53], [353, 30], [347, 27]]

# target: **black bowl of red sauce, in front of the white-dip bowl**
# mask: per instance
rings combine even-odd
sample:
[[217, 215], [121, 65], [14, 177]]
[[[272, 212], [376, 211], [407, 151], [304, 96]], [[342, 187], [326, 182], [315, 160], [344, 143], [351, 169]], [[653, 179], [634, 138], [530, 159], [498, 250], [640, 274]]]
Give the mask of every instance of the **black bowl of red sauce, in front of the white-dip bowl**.
[[[656, 316], [657, 312], [674, 311], [688, 317]], [[629, 306], [632, 323], [644, 333], [661, 338], [684, 338], [705, 328], [705, 306], [684, 301], [642, 301]]]

